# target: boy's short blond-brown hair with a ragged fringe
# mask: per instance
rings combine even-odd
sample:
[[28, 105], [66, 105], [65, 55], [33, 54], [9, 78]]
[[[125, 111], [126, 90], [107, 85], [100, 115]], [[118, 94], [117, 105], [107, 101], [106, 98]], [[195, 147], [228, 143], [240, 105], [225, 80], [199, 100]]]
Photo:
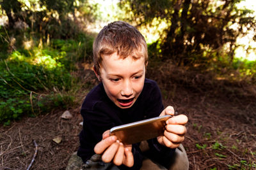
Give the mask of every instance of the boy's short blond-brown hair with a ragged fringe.
[[103, 55], [113, 53], [121, 59], [128, 56], [134, 59], [145, 58], [148, 62], [147, 43], [143, 35], [127, 22], [116, 21], [103, 27], [93, 42], [93, 64], [95, 71], [99, 74]]

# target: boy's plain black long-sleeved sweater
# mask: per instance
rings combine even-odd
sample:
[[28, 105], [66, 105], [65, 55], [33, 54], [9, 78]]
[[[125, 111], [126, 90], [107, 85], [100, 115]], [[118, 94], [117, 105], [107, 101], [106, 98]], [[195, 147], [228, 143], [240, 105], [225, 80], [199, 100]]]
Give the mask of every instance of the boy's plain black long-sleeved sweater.
[[[116, 125], [128, 124], [147, 118], [158, 117], [163, 111], [161, 92], [157, 83], [145, 79], [143, 90], [131, 108], [121, 109], [113, 103], [107, 96], [103, 84], [99, 83], [94, 87], [84, 99], [81, 108], [83, 116], [83, 130], [79, 135], [80, 146], [77, 155], [83, 162], [90, 159], [95, 152], [94, 146], [102, 140], [103, 132]], [[140, 169], [143, 160], [140, 143], [132, 145], [134, 155], [134, 166], [130, 169]], [[172, 157], [174, 150], [160, 145], [156, 138], [148, 140], [148, 145], [153, 155], [160, 160]], [[119, 166], [120, 169], [127, 169]]]

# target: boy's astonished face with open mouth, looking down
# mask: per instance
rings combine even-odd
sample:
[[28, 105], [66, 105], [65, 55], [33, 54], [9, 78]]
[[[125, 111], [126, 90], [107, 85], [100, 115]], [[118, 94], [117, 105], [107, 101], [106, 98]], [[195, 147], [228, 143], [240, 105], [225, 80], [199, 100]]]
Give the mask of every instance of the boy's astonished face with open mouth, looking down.
[[145, 59], [104, 55], [100, 78], [109, 99], [119, 108], [131, 108], [140, 96], [145, 81]]

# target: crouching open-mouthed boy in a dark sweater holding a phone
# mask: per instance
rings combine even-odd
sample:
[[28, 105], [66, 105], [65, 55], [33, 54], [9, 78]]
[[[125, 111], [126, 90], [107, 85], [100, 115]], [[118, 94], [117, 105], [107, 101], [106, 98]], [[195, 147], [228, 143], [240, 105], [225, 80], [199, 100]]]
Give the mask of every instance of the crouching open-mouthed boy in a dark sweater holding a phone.
[[[124, 146], [116, 136], [109, 136], [109, 129], [116, 125], [174, 115], [171, 106], [164, 109], [156, 82], [145, 78], [148, 53], [141, 33], [126, 22], [108, 24], [93, 43], [93, 62], [100, 83], [82, 105], [84, 124], [77, 151], [85, 167], [140, 169], [149, 164], [145, 163], [145, 160], [148, 162], [145, 156], [157, 162], [150, 160], [150, 164], [172, 166], [170, 160], [175, 157], [175, 148], [184, 141], [184, 125], [188, 122], [185, 115], [168, 119], [164, 136], [148, 140], [149, 149], [145, 153], [140, 143]], [[188, 159], [185, 159], [188, 169]]]

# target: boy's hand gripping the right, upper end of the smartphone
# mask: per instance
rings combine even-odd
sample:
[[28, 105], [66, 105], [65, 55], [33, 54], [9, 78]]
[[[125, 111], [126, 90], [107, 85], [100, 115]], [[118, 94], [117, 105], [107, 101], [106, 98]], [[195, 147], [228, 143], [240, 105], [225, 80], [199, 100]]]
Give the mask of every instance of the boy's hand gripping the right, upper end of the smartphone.
[[[160, 116], [174, 115], [174, 109], [172, 106], [166, 107]], [[164, 136], [157, 137], [157, 141], [168, 148], [177, 148], [182, 141], [184, 141], [184, 135], [187, 132], [185, 124], [188, 122], [186, 115], [178, 115], [166, 120], [166, 128]]]

